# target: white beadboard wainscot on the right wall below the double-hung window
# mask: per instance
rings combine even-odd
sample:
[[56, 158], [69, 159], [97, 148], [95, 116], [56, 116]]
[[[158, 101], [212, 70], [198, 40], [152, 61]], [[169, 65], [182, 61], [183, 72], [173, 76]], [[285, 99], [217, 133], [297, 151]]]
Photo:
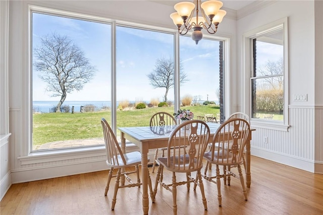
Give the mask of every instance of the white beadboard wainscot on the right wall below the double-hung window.
[[[289, 106], [288, 131], [255, 127], [251, 154], [314, 173], [314, 157], [320, 156], [318, 159], [322, 160], [319, 152], [315, 154], [315, 142], [322, 141], [321, 132], [316, 132], [315, 136], [315, 112], [322, 114], [322, 109], [315, 111], [313, 106]], [[268, 137], [267, 143], [263, 141], [264, 136]]]

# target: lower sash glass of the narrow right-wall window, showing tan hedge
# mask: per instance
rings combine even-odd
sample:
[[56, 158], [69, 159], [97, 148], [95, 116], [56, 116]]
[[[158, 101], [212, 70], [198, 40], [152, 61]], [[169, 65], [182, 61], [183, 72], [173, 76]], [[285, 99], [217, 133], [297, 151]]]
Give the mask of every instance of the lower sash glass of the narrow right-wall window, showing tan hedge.
[[252, 80], [254, 89], [254, 118], [265, 120], [283, 120], [284, 90], [282, 76], [258, 78]]

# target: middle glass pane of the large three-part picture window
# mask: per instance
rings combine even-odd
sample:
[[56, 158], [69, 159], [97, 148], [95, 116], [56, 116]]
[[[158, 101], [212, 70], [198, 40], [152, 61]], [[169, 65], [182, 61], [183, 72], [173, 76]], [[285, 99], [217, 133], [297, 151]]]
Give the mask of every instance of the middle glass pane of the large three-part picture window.
[[173, 34], [117, 26], [117, 103], [117, 127], [149, 126], [154, 113], [174, 113]]

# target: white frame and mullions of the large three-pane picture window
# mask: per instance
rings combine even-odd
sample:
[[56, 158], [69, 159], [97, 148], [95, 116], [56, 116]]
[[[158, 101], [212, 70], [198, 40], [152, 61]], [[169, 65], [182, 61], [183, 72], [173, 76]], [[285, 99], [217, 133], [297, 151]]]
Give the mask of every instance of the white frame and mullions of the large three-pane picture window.
[[[179, 43], [180, 43], [180, 35], [177, 32], [176, 29], [169, 29], [164, 27], [157, 27], [157, 26], [151, 26], [146, 24], [139, 24], [139, 23], [132, 23], [127, 21], [121, 21], [121, 20], [115, 20], [110, 18], [103, 18], [99, 16], [93, 16], [93, 15], [86, 15], [82, 13], [74, 13], [69, 12], [65, 10], [59, 10], [59, 9], [51, 9], [51, 8], [45, 8], [40, 7], [36, 5], [28, 5], [28, 80], [26, 86], [28, 86], [28, 99], [27, 99], [27, 106], [28, 106], [28, 146], [26, 149], [26, 156], [21, 156], [20, 159], [27, 158], [28, 156], [32, 155], [33, 157], [42, 157], [44, 155], [52, 154], [58, 159], [59, 157], [64, 156], [65, 153], [81, 153], [82, 151], [95, 151], [104, 149], [104, 145], [96, 145], [96, 146], [89, 146], [89, 147], [73, 147], [73, 148], [57, 148], [57, 149], [49, 149], [49, 150], [32, 150], [32, 125], [33, 125], [33, 117], [32, 117], [32, 13], [41, 13], [41, 14], [47, 14], [52, 16], [60, 16], [60, 17], [66, 17], [66, 18], [72, 18], [72, 19], [81, 19], [84, 21], [92, 21], [92, 22], [100, 22], [105, 24], [111, 25], [111, 53], [112, 53], [112, 68], [111, 68], [111, 82], [112, 82], [112, 90], [111, 90], [111, 102], [116, 103], [116, 26], [124, 26], [124, 27], [131, 27], [131, 28], [137, 28], [142, 30], [149, 30], [149, 31], [157, 31], [157, 32], [163, 32], [163, 33], [170, 33], [174, 34], [174, 60], [175, 60], [175, 83], [177, 83], [177, 86], [175, 87], [175, 103], [174, 103], [174, 110], [179, 109], [179, 101], [180, 101], [180, 93], [179, 93], [179, 78], [177, 76], [178, 74], [178, 67], [179, 67]], [[190, 35], [190, 33], [188, 33]], [[230, 40], [231, 38], [229, 36], [209, 36], [205, 35], [205, 39], [212, 39], [212, 40], [219, 40], [224, 42], [223, 44], [223, 74], [224, 74], [224, 112], [230, 113]], [[109, 51], [109, 50], [108, 50]], [[117, 108], [116, 105], [112, 105], [111, 107], [111, 124], [112, 129], [116, 133], [117, 132], [117, 126], [116, 126], [116, 112]], [[61, 155], [60, 155], [61, 154]], [[31, 158], [33, 159], [33, 158]], [[41, 162], [40, 162], [41, 163]]]

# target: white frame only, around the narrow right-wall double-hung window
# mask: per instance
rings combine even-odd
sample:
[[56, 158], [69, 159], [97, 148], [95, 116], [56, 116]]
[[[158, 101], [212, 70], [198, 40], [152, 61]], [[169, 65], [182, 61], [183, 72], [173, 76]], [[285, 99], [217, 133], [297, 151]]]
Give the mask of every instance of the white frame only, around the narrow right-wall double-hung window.
[[289, 102], [289, 93], [288, 93], [288, 18], [283, 18], [272, 22], [270, 24], [261, 26], [254, 30], [251, 30], [245, 34], [243, 34], [243, 74], [245, 78], [245, 101], [244, 105], [246, 113], [251, 116], [251, 77], [253, 70], [253, 59], [252, 59], [252, 39], [260, 37], [264, 34], [275, 31], [278, 28], [283, 27], [283, 44], [284, 44], [284, 120], [283, 121], [268, 121], [261, 119], [253, 119], [250, 118], [250, 124], [255, 128], [265, 128], [272, 130], [280, 130], [280, 131], [288, 131], [290, 127], [288, 125], [288, 102]]

